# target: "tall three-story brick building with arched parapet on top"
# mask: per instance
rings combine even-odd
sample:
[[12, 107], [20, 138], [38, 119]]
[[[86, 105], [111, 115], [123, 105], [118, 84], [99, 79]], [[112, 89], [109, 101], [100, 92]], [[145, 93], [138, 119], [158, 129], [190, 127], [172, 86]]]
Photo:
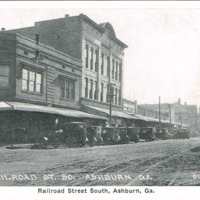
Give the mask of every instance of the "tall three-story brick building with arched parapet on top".
[[[112, 123], [123, 125], [130, 116], [123, 113], [124, 49], [110, 23], [97, 24], [86, 15], [36, 22], [33, 27], [9, 31], [28, 38], [40, 35], [43, 44], [80, 59], [82, 63], [82, 110], [108, 117], [112, 101]], [[121, 117], [119, 117], [121, 115]], [[121, 118], [121, 119], [120, 119]]]

